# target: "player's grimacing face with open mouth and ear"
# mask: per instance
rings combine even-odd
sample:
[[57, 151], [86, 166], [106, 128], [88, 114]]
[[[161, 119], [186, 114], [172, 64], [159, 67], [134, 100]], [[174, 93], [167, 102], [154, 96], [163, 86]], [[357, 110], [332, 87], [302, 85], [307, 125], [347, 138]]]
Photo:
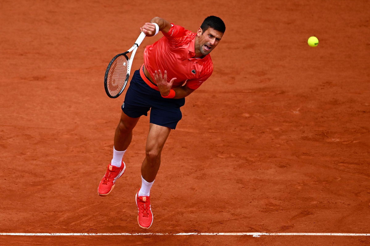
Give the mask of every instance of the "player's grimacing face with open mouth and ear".
[[209, 27], [204, 32], [202, 32], [202, 29], [199, 28], [196, 35], [198, 35], [198, 47], [196, 48], [202, 55], [208, 55], [209, 52], [216, 48], [223, 36], [223, 33]]

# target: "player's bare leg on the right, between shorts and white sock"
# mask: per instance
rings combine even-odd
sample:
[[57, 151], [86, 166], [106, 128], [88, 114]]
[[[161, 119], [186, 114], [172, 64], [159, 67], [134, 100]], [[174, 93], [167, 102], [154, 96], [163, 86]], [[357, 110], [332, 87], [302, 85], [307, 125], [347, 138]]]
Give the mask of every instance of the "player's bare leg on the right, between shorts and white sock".
[[141, 165], [141, 176], [147, 182], [153, 182], [161, 165], [161, 153], [171, 129], [165, 126], [150, 124], [145, 159]]

